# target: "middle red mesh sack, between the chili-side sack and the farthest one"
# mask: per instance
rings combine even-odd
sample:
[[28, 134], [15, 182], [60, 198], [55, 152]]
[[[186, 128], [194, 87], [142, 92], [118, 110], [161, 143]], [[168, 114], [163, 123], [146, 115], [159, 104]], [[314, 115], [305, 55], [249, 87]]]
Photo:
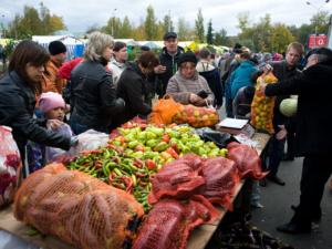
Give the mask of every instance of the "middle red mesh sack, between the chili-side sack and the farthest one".
[[206, 184], [199, 194], [231, 210], [231, 198], [240, 181], [236, 163], [225, 157], [208, 158], [203, 163], [201, 176]]

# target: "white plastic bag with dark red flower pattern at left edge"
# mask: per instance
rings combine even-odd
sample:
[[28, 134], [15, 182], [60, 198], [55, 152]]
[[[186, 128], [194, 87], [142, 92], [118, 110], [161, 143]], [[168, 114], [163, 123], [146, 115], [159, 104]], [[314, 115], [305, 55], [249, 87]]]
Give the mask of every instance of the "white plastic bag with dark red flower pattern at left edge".
[[12, 203], [22, 162], [11, 128], [0, 126], [0, 207]]

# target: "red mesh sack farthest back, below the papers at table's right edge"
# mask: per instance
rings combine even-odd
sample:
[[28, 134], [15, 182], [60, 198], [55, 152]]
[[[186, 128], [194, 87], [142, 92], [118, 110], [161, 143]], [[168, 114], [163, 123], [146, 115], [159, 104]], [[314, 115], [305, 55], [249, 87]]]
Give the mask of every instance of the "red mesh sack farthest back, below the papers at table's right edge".
[[261, 160], [255, 148], [232, 142], [227, 145], [227, 157], [236, 163], [241, 178], [261, 179], [268, 174], [262, 173]]

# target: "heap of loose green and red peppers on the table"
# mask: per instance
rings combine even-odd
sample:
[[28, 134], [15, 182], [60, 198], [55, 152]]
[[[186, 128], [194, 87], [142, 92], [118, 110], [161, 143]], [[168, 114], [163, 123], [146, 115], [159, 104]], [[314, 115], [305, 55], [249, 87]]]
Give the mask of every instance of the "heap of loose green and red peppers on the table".
[[128, 122], [111, 134], [107, 147], [82, 153], [68, 167], [133, 194], [148, 210], [151, 177], [164, 164], [188, 153], [216, 157], [226, 156], [227, 149], [219, 149], [212, 142], [205, 143], [186, 125], [157, 127]]

